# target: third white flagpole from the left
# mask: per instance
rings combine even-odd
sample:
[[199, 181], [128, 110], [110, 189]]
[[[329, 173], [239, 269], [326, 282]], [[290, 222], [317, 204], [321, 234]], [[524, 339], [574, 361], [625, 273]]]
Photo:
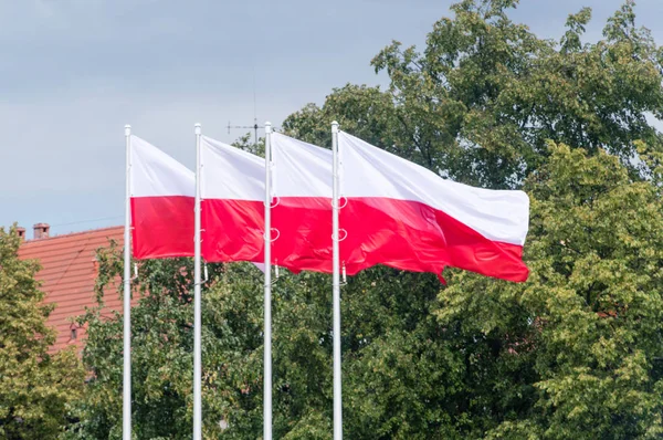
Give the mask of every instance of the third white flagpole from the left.
[[265, 312], [263, 440], [272, 440], [272, 124], [265, 123]]

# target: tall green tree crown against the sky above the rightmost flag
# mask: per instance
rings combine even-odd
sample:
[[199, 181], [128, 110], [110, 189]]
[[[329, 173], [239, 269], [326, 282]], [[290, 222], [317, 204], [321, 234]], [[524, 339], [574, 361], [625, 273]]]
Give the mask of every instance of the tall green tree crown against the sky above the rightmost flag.
[[398, 41], [373, 60], [390, 84], [346, 85], [308, 105], [286, 132], [329, 144], [329, 123], [457, 181], [517, 188], [548, 156], [547, 140], [630, 165], [636, 140], [660, 144], [663, 52], [635, 27], [629, 0], [604, 39], [581, 43], [591, 10], [569, 15], [559, 42], [508, 19], [517, 0], [464, 0], [433, 25], [427, 46]]

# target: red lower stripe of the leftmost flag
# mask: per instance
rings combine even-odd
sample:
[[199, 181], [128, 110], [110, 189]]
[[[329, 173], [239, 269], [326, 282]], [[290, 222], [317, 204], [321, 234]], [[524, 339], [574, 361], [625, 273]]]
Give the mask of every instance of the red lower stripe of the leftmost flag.
[[131, 198], [134, 258], [193, 256], [193, 206], [187, 196]]

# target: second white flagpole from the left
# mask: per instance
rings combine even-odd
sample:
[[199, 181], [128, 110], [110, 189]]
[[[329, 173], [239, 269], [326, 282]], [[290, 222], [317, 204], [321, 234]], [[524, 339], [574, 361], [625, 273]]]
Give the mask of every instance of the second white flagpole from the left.
[[200, 315], [200, 124], [196, 124], [196, 205], [193, 208], [193, 440], [202, 440]]

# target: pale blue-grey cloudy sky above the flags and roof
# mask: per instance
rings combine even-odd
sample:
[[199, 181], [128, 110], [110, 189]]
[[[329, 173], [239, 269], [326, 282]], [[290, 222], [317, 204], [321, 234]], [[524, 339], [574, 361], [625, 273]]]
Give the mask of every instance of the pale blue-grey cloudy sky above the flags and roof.
[[[453, 0], [0, 0], [0, 227], [32, 237], [124, 221], [124, 125], [193, 168], [193, 124], [232, 142], [276, 127], [347, 83], [385, 85], [370, 60], [423, 48]], [[522, 0], [511, 17], [558, 39], [593, 9], [597, 40], [622, 0]], [[660, 0], [639, 24], [663, 43]], [[254, 99], [255, 96], [255, 99]]]

